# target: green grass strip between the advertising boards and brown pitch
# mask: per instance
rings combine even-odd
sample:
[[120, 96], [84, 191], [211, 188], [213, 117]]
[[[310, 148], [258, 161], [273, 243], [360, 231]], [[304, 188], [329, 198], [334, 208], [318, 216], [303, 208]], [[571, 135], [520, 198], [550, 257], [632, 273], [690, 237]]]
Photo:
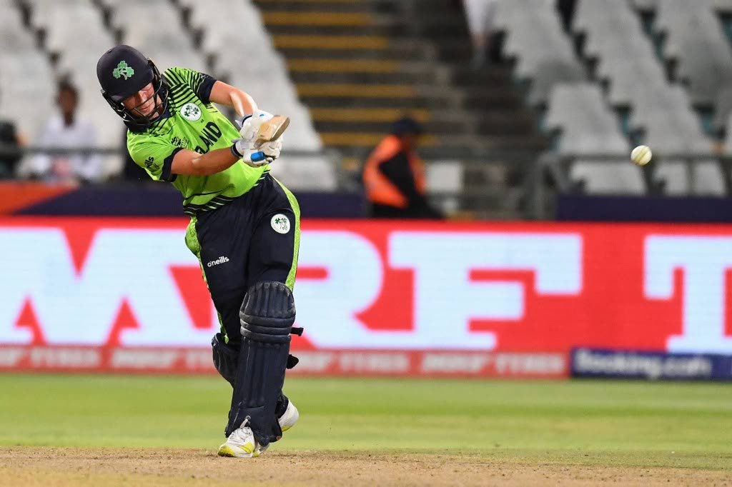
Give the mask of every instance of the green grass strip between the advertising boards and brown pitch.
[[[213, 449], [217, 377], [0, 374], [0, 445]], [[288, 380], [278, 450], [466, 453], [496, 461], [732, 469], [732, 387], [684, 382]]]

